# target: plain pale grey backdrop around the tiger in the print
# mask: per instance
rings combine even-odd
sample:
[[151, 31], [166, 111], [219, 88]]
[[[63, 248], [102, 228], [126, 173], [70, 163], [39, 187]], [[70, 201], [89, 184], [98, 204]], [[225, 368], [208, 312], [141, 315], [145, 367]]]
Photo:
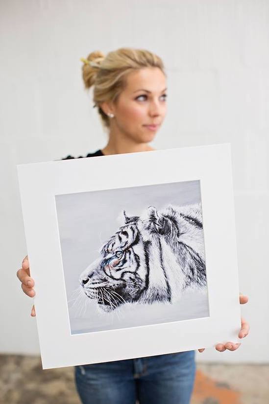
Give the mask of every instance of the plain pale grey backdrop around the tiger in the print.
[[[79, 301], [72, 292], [78, 287], [81, 272], [99, 257], [101, 246], [118, 230], [127, 215], [140, 215], [149, 205], [158, 210], [173, 205], [200, 202], [199, 181], [186, 181], [56, 195], [65, 285], [72, 333], [178, 321], [209, 315], [205, 291], [187, 290], [174, 305], [124, 305], [112, 313], [101, 314], [94, 301]], [[75, 293], [77, 296], [77, 293]]]

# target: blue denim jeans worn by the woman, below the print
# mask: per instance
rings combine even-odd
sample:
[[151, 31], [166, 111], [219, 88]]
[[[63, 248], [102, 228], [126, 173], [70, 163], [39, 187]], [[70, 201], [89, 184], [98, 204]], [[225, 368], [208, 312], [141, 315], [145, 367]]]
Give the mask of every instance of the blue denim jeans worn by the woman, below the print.
[[195, 351], [75, 366], [83, 404], [189, 404]]

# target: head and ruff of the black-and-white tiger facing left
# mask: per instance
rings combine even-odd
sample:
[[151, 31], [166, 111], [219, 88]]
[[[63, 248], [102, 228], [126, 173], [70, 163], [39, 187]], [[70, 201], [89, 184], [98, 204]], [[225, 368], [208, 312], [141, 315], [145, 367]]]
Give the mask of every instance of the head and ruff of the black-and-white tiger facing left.
[[171, 303], [182, 277], [174, 276], [178, 262], [165, 238], [177, 228], [152, 206], [142, 216], [123, 215], [124, 225], [80, 275], [84, 293], [106, 312], [125, 303]]

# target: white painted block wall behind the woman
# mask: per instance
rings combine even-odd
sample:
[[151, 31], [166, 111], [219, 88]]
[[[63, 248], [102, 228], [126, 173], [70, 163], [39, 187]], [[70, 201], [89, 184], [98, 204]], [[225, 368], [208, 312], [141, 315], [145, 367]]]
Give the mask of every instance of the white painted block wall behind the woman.
[[[105, 145], [79, 59], [128, 46], [150, 49], [166, 65], [169, 112], [155, 148], [232, 144], [251, 333], [236, 352], [207, 349], [197, 358], [269, 361], [269, 1], [2, 1], [0, 38], [1, 352], [39, 352], [32, 301], [16, 277], [26, 255], [16, 165]], [[45, 259], [49, 265], [49, 251]]]

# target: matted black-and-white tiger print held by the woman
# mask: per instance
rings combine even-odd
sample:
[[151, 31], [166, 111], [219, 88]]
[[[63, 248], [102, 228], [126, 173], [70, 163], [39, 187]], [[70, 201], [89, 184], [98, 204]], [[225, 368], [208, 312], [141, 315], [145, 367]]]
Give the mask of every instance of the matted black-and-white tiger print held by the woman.
[[230, 144], [17, 168], [43, 369], [239, 341]]

